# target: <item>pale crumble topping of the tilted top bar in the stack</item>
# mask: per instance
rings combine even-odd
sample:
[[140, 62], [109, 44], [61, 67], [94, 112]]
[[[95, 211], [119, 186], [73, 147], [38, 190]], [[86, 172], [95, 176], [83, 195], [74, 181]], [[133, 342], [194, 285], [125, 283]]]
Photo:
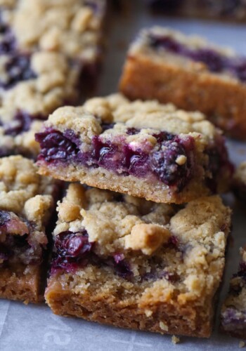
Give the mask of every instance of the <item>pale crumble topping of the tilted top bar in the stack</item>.
[[[101, 123], [115, 125], [102, 131]], [[53, 126], [60, 131], [72, 129], [86, 143], [93, 135], [101, 134], [106, 139], [108, 135], [124, 133], [128, 143], [146, 140], [150, 145], [155, 145], [156, 138], [150, 133], [167, 131], [189, 134], [199, 138], [202, 145], [218, 133], [200, 112], [176, 110], [174, 105], [161, 105], [157, 101], [130, 102], [120, 94], [90, 99], [82, 107], [60, 107], [46, 122], [46, 127]], [[136, 135], [127, 135], [128, 128], [139, 128], [141, 131]]]

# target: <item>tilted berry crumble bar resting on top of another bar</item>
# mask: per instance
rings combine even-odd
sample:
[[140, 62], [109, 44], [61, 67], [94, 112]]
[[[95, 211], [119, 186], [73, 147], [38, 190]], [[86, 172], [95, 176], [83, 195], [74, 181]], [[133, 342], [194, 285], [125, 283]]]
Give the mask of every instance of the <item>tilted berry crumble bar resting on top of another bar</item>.
[[39, 173], [156, 202], [227, 189], [224, 138], [199, 112], [122, 95], [63, 107], [36, 134]]

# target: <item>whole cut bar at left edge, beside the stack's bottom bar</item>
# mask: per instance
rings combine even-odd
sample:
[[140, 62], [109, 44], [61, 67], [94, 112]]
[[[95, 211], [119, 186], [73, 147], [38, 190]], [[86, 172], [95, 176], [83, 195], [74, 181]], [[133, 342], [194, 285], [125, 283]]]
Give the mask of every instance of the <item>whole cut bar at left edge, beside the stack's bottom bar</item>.
[[57, 195], [56, 183], [39, 176], [31, 160], [0, 159], [0, 298], [44, 298], [46, 230]]

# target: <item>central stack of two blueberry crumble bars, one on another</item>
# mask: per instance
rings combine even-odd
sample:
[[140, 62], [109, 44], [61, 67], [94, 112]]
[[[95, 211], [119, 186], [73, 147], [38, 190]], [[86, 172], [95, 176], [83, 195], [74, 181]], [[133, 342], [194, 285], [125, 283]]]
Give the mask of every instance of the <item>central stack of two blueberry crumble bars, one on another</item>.
[[53, 312], [208, 337], [231, 225], [207, 196], [231, 179], [221, 133], [199, 112], [115, 94], [60, 107], [36, 138], [41, 175], [85, 184], [58, 202]]

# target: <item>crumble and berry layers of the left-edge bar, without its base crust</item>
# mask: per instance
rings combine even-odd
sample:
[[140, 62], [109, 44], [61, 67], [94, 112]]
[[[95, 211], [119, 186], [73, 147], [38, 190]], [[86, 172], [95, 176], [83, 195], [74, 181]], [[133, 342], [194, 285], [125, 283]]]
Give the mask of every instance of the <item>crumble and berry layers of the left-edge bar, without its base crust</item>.
[[0, 159], [0, 267], [41, 264], [56, 183], [21, 156]]

